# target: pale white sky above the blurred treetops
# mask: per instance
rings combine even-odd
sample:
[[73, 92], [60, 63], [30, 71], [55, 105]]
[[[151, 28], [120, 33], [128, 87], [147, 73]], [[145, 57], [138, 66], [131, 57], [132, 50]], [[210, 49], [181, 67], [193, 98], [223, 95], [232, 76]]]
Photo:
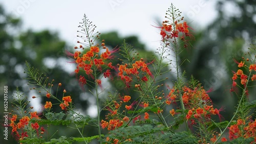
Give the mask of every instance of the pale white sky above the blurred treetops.
[[0, 0], [5, 10], [22, 18], [23, 30], [50, 29], [58, 32], [60, 37], [76, 46], [78, 40], [77, 26], [83, 14], [93, 21], [101, 33], [117, 30], [121, 36], [138, 35], [147, 49], [159, 46], [159, 29], [156, 20], [165, 20], [165, 12], [173, 3], [183, 13], [182, 16], [191, 22], [193, 29], [199, 30], [216, 17], [212, 1], [61, 1], [61, 0]]

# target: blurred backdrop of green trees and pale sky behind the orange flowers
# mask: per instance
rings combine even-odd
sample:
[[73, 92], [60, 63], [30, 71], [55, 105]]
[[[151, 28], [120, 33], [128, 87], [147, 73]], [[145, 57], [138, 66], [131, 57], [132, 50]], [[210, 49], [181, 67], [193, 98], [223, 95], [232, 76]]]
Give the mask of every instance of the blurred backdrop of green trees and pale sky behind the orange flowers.
[[[46, 101], [43, 98], [31, 99], [38, 93], [31, 91], [28, 81], [23, 79], [26, 77], [25, 61], [28, 61], [50, 79], [55, 79], [56, 84], [61, 82], [62, 90], [67, 90], [82, 114], [96, 116], [95, 98], [80, 88], [73, 73], [75, 66], [69, 63], [70, 59], [65, 54], [66, 50], [74, 52], [73, 47], [78, 46], [76, 41], [80, 34], [77, 33], [77, 26], [83, 14], [97, 26], [96, 31], [101, 33], [101, 39], [105, 39], [109, 47], [120, 46], [125, 39], [150, 60], [161, 40], [159, 29], [153, 26], [160, 26], [161, 21], [165, 20], [165, 12], [171, 3], [182, 11], [182, 16], [194, 29], [193, 47], [180, 55], [181, 60], [188, 58], [190, 61], [182, 65], [182, 70], [186, 70], [188, 77], [193, 75], [200, 80], [206, 90], [212, 88], [209, 95], [215, 107], [223, 107], [226, 113], [224, 119], [229, 120], [237, 105], [236, 96], [229, 92], [232, 70], [238, 68], [233, 59], [241, 60], [256, 35], [255, 0], [0, 0], [0, 92], [3, 93], [3, 87], [8, 86], [9, 112], [11, 95], [16, 87], [28, 96], [37, 111]], [[113, 91], [121, 89], [122, 84], [114, 81], [108, 83]], [[255, 92], [250, 90], [252, 96]], [[3, 104], [3, 101], [1, 99], [0, 103]], [[3, 117], [3, 108], [0, 109], [0, 116]], [[102, 113], [102, 118], [104, 115]], [[70, 136], [79, 136], [76, 131], [69, 131]], [[2, 129], [0, 134], [3, 134]], [[62, 135], [61, 132], [56, 137], [58, 135]], [[97, 135], [97, 130], [88, 128], [87, 135]], [[10, 136], [8, 142], [16, 143]]]

